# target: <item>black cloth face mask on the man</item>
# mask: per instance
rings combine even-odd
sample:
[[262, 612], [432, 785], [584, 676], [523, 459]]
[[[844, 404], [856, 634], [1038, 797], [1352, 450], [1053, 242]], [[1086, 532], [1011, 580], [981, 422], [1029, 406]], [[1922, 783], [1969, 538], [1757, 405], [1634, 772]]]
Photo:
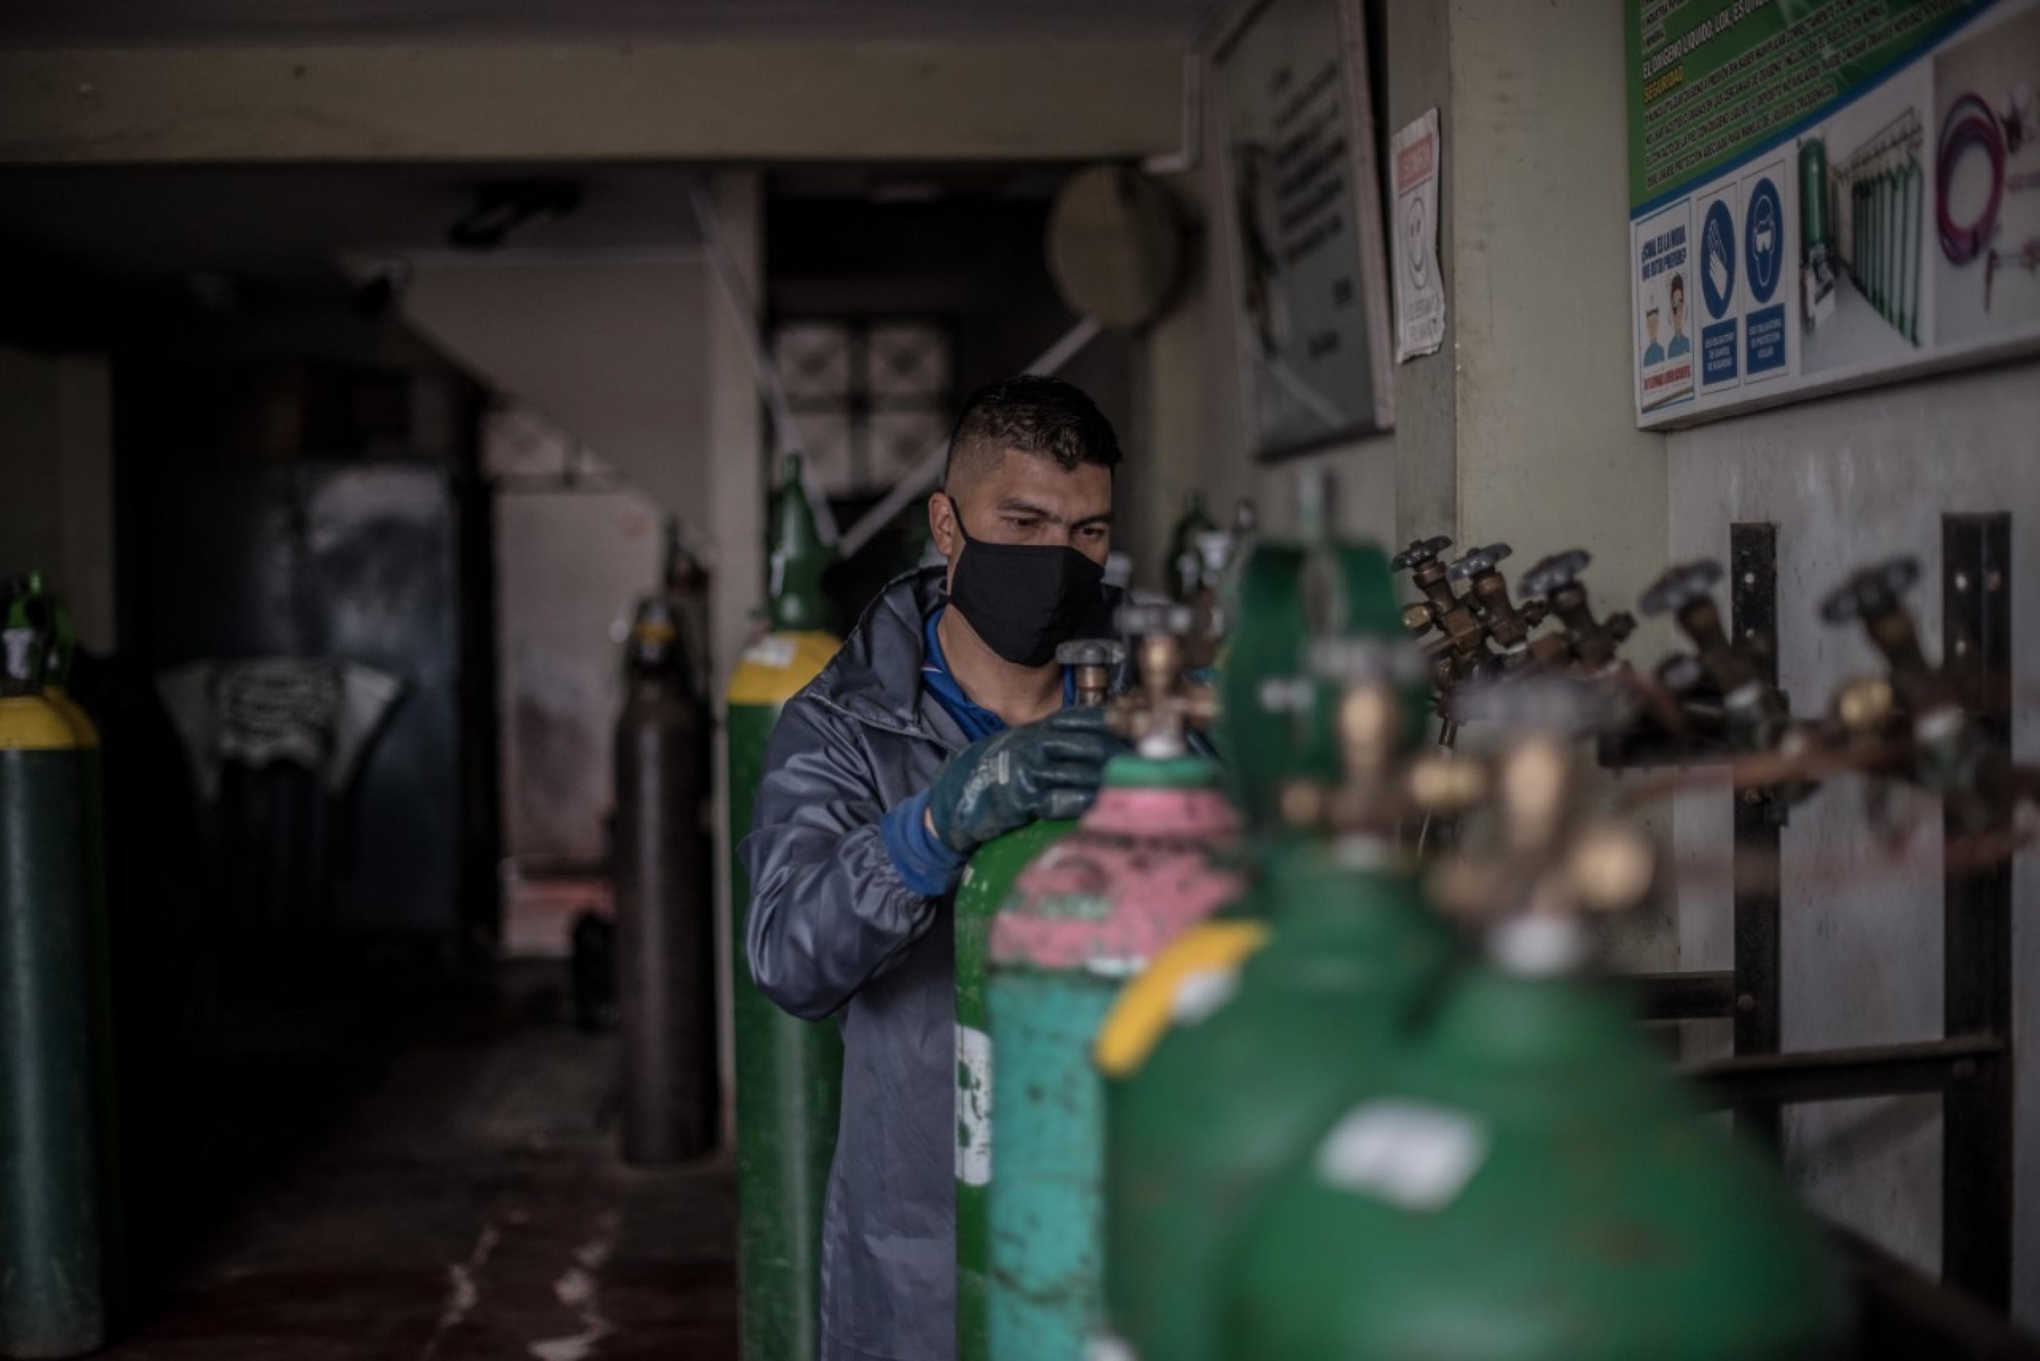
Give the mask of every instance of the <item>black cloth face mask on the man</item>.
[[963, 535], [949, 602], [985, 647], [1016, 667], [1055, 661], [1057, 645], [1077, 637], [1098, 612], [1106, 569], [1067, 545], [971, 539], [955, 498], [949, 510]]

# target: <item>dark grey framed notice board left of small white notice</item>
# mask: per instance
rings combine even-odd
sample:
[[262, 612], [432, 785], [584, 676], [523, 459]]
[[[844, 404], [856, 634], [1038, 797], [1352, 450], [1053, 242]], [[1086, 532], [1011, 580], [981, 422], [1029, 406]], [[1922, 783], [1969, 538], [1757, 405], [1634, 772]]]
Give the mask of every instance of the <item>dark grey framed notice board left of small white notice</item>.
[[1361, 4], [1251, 4], [1212, 69], [1253, 453], [1385, 431], [1393, 351]]

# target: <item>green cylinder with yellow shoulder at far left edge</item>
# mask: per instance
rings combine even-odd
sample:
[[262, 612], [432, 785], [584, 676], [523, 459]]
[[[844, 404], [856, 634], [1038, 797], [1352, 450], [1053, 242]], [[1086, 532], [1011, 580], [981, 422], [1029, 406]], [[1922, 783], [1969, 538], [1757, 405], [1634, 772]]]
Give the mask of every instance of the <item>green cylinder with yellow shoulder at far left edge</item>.
[[106, 1341], [86, 759], [41, 694], [47, 608], [0, 641], [0, 1355], [75, 1357]]

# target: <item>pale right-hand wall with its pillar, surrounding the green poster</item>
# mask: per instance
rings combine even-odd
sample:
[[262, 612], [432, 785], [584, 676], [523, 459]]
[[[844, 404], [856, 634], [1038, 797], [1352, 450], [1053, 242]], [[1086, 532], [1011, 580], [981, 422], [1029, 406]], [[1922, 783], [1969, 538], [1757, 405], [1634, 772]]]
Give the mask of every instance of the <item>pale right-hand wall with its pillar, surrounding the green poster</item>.
[[[1391, 6], [1391, 18], [1397, 10]], [[1463, 541], [1508, 539], [1518, 561], [1581, 543], [1608, 604], [1632, 604], [1669, 559], [1728, 551], [1738, 518], [1779, 522], [1781, 679], [1801, 710], [1873, 665], [1854, 637], [1814, 620], [1818, 592], [1848, 567], [1911, 551], [1938, 561], [1942, 510], [2040, 506], [2034, 365], [1897, 386], [1699, 426], [1638, 433], [1622, 118], [1622, 24], [1612, 6], [1457, 0], [1448, 18], [1457, 510]], [[1410, 441], [1412, 431], [1397, 433]], [[1930, 453], [1932, 463], [1922, 455]], [[1406, 459], [1408, 461], [1408, 459]], [[2022, 543], [2020, 577], [2036, 549]], [[1932, 573], [1930, 573], [1932, 577]], [[1938, 637], [1938, 600], [1922, 624]], [[2032, 600], [2018, 602], [2032, 635]], [[1646, 628], [1628, 653], [1671, 647]], [[2022, 649], [2030, 688], [2040, 645]], [[2030, 704], [2026, 722], [2030, 728]], [[2028, 757], [2034, 741], [2022, 739]], [[1785, 1043], [1793, 1049], [1930, 1039], [1940, 1030], [1938, 816], [1914, 863], [1877, 863], [1858, 790], [1836, 788], [1785, 835]], [[1665, 818], [1659, 818], [1661, 822]], [[1726, 967], [1728, 820], [1720, 800], [1681, 802], [1681, 892], [1671, 916], [1636, 922], [1628, 967]], [[2030, 859], [2030, 857], [2028, 857]], [[2020, 869], [2022, 920], [2034, 902]], [[2040, 973], [2022, 930], [2022, 981]], [[2040, 1024], [2032, 984], [2022, 1026]], [[2034, 1065], [2022, 1073], [2040, 1118]], [[2022, 1130], [2030, 1128], [2022, 1122]], [[2040, 1141], [2020, 1141], [2030, 1188]], [[1940, 1137], [1934, 1100], [1850, 1102], [1789, 1114], [1789, 1155], [1814, 1202], [1938, 1267]], [[2040, 1198], [2022, 1196], [2018, 1271], [2040, 1314]]]

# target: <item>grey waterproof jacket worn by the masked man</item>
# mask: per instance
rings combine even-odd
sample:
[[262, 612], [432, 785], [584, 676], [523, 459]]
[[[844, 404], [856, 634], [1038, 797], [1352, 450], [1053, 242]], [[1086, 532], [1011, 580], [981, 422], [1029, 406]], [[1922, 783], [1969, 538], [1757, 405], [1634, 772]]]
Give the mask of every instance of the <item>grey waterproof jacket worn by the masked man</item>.
[[940, 594], [940, 567], [891, 582], [787, 702], [741, 847], [751, 975], [787, 1012], [843, 1026], [822, 1361], [957, 1351], [955, 930], [947, 900], [914, 894], [879, 837], [885, 810], [965, 745], [920, 684]]

